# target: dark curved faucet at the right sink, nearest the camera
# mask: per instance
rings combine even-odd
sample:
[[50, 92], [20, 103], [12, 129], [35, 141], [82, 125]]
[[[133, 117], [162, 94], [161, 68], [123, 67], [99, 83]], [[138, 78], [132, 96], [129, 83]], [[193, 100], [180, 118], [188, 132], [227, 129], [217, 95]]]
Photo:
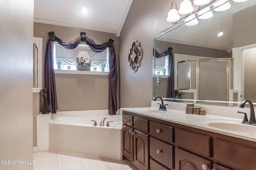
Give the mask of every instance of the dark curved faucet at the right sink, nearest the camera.
[[248, 103], [250, 106], [250, 120], [248, 121], [247, 115], [245, 112], [242, 111], [238, 111], [238, 113], [243, 113], [244, 114], [244, 120], [242, 121], [242, 123], [244, 124], [249, 124], [249, 125], [256, 125], [256, 119], [255, 119], [255, 113], [254, 113], [254, 106], [252, 104], [252, 102], [250, 100], [244, 100], [241, 104], [240, 104], [240, 108], [244, 108], [245, 104]]

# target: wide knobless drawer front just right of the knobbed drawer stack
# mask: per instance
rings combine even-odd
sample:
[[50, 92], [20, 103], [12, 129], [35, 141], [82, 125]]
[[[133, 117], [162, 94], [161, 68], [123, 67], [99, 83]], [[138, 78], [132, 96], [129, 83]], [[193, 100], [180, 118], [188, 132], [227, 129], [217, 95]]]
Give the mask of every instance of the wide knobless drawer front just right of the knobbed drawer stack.
[[208, 136], [176, 128], [175, 143], [184, 149], [210, 156], [210, 137]]

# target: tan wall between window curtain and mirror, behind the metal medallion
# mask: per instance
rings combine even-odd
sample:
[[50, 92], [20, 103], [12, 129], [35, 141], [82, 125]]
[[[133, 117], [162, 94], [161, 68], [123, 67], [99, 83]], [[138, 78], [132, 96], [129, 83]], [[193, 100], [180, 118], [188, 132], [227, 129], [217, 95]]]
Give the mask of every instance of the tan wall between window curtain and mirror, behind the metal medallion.
[[[180, 1], [179, 1], [180, 2]], [[120, 107], [150, 106], [153, 90], [153, 36], [170, 27], [169, 0], [134, 0], [120, 35]], [[137, 72], [129, 68], [132, 41], [141, 44], [143, 57]]]

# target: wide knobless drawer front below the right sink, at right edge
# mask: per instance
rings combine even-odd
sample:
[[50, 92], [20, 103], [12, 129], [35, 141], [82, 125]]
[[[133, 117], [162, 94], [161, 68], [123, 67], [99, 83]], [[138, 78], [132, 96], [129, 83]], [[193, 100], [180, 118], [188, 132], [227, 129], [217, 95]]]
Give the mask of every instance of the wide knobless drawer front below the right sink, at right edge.
[[238, 169], [256, 168], [256, 147], [248, 148], [231, 142], [214, 140], [214, 158]]

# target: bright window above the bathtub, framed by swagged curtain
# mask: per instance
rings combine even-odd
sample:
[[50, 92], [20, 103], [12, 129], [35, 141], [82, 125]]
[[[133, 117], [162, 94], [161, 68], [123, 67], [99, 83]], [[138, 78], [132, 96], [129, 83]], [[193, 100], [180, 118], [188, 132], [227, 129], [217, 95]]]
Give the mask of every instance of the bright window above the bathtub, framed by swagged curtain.
[[91, 71], [109, 72], [108, 48], [101, 52], [94, 52], [88, 45], [79, 44], [74, 49], [67, 49], [54, 42], [54, 69], [76, 70], [76, 58], [91, 59]]

